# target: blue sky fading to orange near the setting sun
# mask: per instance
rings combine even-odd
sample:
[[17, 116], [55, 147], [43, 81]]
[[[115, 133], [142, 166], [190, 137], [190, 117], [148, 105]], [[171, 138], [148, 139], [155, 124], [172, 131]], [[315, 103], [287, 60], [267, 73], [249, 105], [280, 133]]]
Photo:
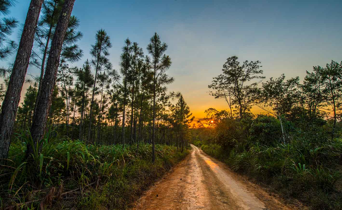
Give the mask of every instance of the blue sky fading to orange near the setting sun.
[[[23, 24], [30, 1], [17, 1], [10, 16]], [[169, 46], [168, 74], [175, 78], [169, 91], [181, 92], [196, 119], [203, 118], [208, 108], [228, 109], [224, 100], [208, 94], [208, 85], [230, 56], [240, 62], [261, 61], [266, 79], [284, 73], [302, 80], [313, 66], [342, 61], [341, 11], [341, 0], [76, 0], [73, 15], [80, 19], [83, 38], [78, 44], [84, 56], [69, 66], [80, 67], [91, 58], [99, 29], [110, 36], [109, 58], [115, 69], [124, 39], [139, 43], [146, 53], [149, 38], [157, 32]], [[17, 42], [19, 28], [11, 37]], [[27, 73], [39, 75], [39, 70], [29, 67]]]

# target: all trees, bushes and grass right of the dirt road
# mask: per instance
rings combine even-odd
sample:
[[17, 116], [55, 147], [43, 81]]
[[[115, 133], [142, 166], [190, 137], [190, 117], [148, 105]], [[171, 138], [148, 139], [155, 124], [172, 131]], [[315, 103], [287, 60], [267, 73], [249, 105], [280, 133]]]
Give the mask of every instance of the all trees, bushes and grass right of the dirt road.
[[289, 202], [341, 209], [342, 63], [316, 66], [302, 83], [284, 75], [261, 82], [259, 63], [227, 59], [209, 87], [232, 109], [206, 110], [193, 144]]

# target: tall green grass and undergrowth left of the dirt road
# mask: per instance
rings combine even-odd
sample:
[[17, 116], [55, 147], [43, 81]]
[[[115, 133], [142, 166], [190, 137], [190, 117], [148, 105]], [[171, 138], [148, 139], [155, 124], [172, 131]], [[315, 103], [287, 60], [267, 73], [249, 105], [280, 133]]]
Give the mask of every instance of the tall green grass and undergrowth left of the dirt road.
[[25, 160], [25, 141], [11, 145], [0, 169], [2, 209], [127, 209], [157, 178], [182, 160], [173, 146], [94, 146], [80, 141], [43, 143]]

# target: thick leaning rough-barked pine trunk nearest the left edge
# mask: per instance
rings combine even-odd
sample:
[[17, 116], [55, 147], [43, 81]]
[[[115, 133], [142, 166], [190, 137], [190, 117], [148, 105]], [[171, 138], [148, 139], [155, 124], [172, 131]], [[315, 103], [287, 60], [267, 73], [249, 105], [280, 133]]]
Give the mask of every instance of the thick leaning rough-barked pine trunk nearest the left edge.
[[7, 158], [43, 0], [31, 0], [0, 115], [0, 159]]

